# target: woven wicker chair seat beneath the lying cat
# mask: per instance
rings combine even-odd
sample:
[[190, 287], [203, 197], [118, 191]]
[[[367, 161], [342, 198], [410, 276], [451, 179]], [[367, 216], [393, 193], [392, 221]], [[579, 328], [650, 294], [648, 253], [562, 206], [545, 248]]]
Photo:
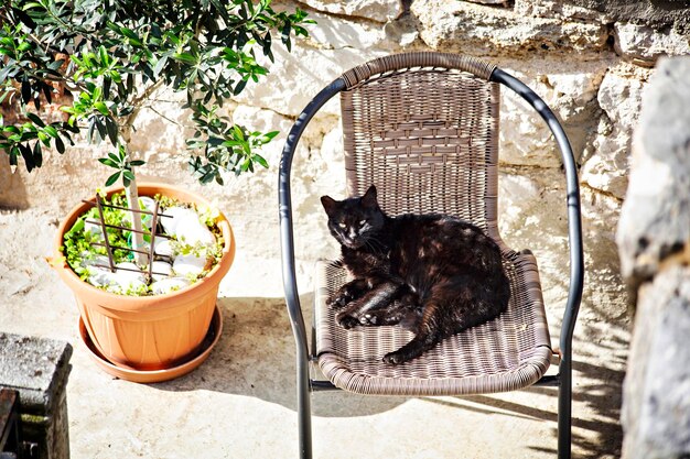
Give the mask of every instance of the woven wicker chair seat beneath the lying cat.
[[539, 273], [529, 253], [504, 250], [511, 298], [498, 318], [454, 335], [399, 365], [382, 358], [410, 341], [399, 326], [346, 330], [325, 304], [348, 281], [335, 263], [317, 263], [316, 354], [324, 375], [339, 387], [368, 395], [470, 395], [526, 387], [549, 368], [551, 341]]

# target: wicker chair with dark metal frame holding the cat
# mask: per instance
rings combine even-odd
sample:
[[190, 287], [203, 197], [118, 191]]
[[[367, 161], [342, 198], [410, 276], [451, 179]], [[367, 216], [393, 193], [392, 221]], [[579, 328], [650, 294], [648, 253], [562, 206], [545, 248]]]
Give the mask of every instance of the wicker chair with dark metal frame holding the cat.
[[[525, 98], [546, 120], [561, 150], [568, 186], [570, 294], [560, 348], [551, 347], [537, 263], [508, 248], [498, 233], [498, 107], [500, 85]], [[297, 291], [290, 172], [297, 143], [314, 113], [341, 95], [347, 192], [375, 184], [389, 215], [441, 212], [483, 228], [500, 247], [511, 299], [495, 320], [457, 334], [401, 365], [381, 357], [412, 336], [400, 327], [337, 326], [325, 306], [346, 273], [322, 262], [316, 275], [310, 349]], [[551, 110], [527, 86], [486, 62], [443, 53], [391, 55], [359, 65], [324, 88], [290, 131], [280, 164], [280, 231], [285, 299], [297, 341], [301, 457], [310, 458], [311, 392], [467, 395], [558, 385], [559, 458], [571, 449], [571, 342], [583, 285], [580, 197], [568, 139]], [[325, 217], [324, 217], [325, 218]], [[559, 374], [545, 376], [553, 354]], [[559, 360], [559, 359], [556, 359]], [[312, 380], [317, 362], [330, 381]]]

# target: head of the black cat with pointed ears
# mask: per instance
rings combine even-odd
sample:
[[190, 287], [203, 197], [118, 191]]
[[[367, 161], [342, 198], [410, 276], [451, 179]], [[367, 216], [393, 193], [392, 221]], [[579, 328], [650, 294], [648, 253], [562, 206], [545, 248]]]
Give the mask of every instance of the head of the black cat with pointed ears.
[[376, 187], [371, 185], [360, 197], [335, 200], [322, 196], [321, 204], [328, 216], [331, 234], [351, 249], [365, 247], [374, 241], [382, 229], [385, 215], [376, 200]]

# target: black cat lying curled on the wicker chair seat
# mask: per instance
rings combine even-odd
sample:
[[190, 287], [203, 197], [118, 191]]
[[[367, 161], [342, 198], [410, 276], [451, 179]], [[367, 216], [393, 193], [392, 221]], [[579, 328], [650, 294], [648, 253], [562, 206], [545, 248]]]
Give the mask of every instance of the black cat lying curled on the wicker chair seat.
[[384, 357], [398, 364], [506, 310], [510, 285], [498, 245], [476, 226], [442, 215], [387, 216], [376, 187], [321, 198], [353, 281], [327, 299], [344, 328], [409, 327], [414, 338]]

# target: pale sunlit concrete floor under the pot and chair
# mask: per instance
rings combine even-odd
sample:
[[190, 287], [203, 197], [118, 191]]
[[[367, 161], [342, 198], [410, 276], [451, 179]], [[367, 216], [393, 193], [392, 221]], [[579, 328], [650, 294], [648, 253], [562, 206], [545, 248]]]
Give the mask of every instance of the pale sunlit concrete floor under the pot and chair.
[[[218, 299], [224, 334], [201, 368], [136, 384], [99, 370], [79, 341], [72, 294], [43, 260], [56, 222], [41, 210], [0, 212], [0, 330], [74, 346], [72, 459], [298, 457], [294, 345], [277, 260], [238, 253]], [[628, 337], [623, 326], [586, 317], [576, 328], [573, 457], [614, 458]], [[556, 407], [554, 389], [433, 398], [320, 393], [314, 456], [552, 458]]]

